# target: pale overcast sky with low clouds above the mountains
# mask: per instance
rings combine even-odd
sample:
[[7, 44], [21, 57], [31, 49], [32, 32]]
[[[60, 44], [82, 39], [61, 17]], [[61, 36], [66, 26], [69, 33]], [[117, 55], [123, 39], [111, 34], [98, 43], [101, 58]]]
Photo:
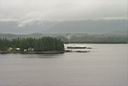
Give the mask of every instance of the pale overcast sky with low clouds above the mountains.
[[128, 0], [0, 0], [0, 20], [127, 18]]

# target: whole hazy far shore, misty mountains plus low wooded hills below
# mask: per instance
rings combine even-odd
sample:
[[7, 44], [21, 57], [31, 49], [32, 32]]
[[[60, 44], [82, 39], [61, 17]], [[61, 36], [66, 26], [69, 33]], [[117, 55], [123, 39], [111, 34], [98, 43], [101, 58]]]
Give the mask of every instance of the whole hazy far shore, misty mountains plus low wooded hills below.
[[65, 42], [128, 43], [128, 20], [0, 21], [0, 33], [7, 39], [51, 36]]

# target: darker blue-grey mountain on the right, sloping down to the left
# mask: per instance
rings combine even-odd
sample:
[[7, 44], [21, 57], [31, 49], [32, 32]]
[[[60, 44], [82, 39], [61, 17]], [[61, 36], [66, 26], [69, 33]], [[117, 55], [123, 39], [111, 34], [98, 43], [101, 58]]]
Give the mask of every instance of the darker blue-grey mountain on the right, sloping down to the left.
[[47, 31], [51, 33], [119, 33], [128, 31], [127, 24], [126, 20], [66, 21], [56, 24]]

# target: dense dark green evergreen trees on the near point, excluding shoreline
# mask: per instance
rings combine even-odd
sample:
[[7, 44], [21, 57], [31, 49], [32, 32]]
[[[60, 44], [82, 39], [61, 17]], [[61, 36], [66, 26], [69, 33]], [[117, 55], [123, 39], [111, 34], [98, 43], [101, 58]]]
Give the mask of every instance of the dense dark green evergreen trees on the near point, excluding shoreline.
[[13, 40], [0, 39], [0, 51], [6, 51], [9, 48], [19, 48], [20, 51], [33, 49], [34, 51], [63, 51], [64, 43], [60, 39], [52, 37], [35, 38], [17, 38]]

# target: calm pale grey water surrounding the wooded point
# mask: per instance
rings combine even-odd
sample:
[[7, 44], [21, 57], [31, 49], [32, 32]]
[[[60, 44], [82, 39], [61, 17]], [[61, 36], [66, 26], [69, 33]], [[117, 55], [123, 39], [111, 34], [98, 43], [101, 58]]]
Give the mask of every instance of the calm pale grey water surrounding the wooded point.
[[0, 86], [128, 86], [128, 44], [89, 53], [0, 55]]

